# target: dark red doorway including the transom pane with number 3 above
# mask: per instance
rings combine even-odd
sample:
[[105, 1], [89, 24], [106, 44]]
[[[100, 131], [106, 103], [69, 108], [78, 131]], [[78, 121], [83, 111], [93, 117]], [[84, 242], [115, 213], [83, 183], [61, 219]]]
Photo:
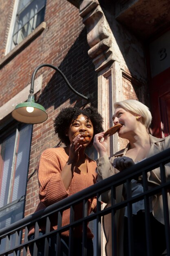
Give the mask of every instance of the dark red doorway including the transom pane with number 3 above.
[[150, 104], [152, 134], [170, 134], [170, 30], [155, 37], [149, 44]]

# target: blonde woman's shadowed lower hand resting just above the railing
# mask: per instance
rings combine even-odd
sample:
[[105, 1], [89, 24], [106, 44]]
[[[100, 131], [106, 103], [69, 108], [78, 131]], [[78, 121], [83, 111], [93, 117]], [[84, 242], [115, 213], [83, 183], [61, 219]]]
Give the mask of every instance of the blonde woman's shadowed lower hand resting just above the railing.
[[123, 171], [124, 169], [134, 165], [132, 158], [130, 157], [116, 157], [113, 160], [113, 167], [115, 167], [119, 171]]

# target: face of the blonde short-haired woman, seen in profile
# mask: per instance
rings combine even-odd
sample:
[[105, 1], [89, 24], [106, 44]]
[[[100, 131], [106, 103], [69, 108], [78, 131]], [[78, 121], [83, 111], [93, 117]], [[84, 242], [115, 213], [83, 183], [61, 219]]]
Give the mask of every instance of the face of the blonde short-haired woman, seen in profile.
[[118, 131], [119, 137], [128, 139], [135, 132], [139, 122], [137, 122], [135, 114], [133, 115], [118, 106], [113, 114], [113, 123], [114, 125], [118, 123], [122, 125]]

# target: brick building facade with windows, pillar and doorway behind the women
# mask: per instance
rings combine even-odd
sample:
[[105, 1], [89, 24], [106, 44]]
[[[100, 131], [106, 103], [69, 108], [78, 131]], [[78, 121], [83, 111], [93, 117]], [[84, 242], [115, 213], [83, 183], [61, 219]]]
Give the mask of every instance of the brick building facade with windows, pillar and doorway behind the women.
[[[53, 130], [62, 108], [95, 106], [106, 130], [114, 102], [138, 99], [152, 112], [150, 132], [169, 135], [169, 9], [169, 0], [0, 2], [0, 228], [35, 211], [36, 167], [43, 150], [62, 146]], [[33, 71], [43, 63], [58, 67], [89, 100], [43, 67], [34, 94], [48, 119], [22, 124], [11, 112], [27, 100]], [[109, 154], [123, 146], [117, 135], [110, 137]]]

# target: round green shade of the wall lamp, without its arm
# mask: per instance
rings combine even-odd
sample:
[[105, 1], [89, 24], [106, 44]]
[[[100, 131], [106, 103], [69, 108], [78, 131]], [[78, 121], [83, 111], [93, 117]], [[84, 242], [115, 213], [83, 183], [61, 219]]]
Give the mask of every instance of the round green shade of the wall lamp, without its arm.
[[[26, 110], [27, 107], [33, 108], [32, 112]], [[17, 121], [26, 124], [40, 124], [48, 118], [45, 108], [38, 103], [23, 102], [18, 104], [12, 112], [12, 117]]]

